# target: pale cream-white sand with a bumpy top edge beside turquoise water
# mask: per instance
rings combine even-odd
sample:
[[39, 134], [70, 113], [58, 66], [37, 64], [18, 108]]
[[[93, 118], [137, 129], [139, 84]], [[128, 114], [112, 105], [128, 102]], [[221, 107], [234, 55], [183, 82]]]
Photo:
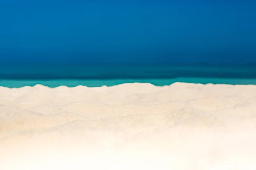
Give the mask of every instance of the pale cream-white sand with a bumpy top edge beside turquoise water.
[[256, 85], [0, 87], [0, 170], [255, 170]]

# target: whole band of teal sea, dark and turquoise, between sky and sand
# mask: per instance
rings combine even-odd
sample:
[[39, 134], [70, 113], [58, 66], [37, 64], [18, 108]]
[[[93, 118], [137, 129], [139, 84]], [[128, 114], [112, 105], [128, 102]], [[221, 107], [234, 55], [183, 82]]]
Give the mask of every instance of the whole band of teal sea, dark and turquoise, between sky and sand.
[[156, 86], [175, 82], [256, 85], [256, 65], [0, 65], [0, 86], [8, 88], [36, 84], [100, 87], [133, 82]]

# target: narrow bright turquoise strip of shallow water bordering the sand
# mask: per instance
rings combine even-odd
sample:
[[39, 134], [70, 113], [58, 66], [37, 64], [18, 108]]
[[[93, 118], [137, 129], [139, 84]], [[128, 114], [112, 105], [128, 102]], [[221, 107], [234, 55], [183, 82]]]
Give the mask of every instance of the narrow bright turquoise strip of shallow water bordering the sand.
[[50, 88], [58, 86], [67, 86], [70, 88], [76, 86], [101, 87], [101, 86], [116, 86], [126, 83], [150, 83], [152, 85], [162, 87], [172, 85], [177, 82], [191, 84], [227, 84], [227, 85], [256, 85], [256, 79], [201, 79], [201, 78], [180, 78], [180, 79], [60, 79], [60, 80], [0, 80], [0, 87], [21, 88], [24, 86], [33, 87], [35, 85], [44, 85]]

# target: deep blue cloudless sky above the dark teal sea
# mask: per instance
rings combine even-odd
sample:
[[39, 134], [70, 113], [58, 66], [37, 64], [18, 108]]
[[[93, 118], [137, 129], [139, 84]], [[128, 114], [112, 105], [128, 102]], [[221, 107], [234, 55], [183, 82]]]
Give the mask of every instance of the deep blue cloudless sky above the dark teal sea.
[[249, 0], [0, 0], [0, 62], [256, 62], [255, 8]]

